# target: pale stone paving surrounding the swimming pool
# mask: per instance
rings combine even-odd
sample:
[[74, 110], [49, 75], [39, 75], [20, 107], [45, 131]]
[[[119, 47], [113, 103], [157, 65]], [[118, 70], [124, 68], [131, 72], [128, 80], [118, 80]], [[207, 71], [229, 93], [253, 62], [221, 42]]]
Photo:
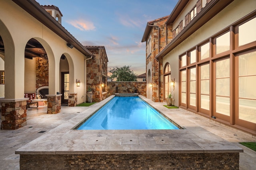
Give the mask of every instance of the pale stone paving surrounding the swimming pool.
[[[9, 170], [19, 169], [19, 155], [15, 154], [15, 151], [20, 147], [26, 147], [26, 144], [36, 139], [35, 143], [41, 143], [44, 148], [42, 150], [48, 149], [49, 152], [56, 150], [58, 154], [66, 154], [66, 150], [72, 149], [74, 153], [78, 153], [79, 150], [85, 150], [83, 153], [105, 153], [112, 151], [115, 148], [115, 153], [139, 153], [140, 150], [148, 153], [151, 152], [166, 152], [175, 153], [175, 150], [180, 152], [180, 149], [191, 150], [194, 152], [197, 148], [198, 152], [203, 152], [203, 149], [214, 148], [214, 144], [208, 145], [210, 140], [220, 141], [224, 148], [226, 146], [226, 141], [244, 149], [244, 152], [240, 152], [240, 170], [253, 170], [256, 169], [256, 152], [248, 149], [238, 142], [244, 141], [254, 141], [256, 138], [250, 134], [226, 127], [220, 123], [215, 122], [212, 119], [202, 117], [195, 113], [191, 113], [184, 109], [167, 109], [163, 107], [165, 103], [154, 103], [158, 105], [158, 109], [170, 117], [175, 119], [176, 123], [179, 121], [186, 121], [186, 129], [183, 131], [171, 130], [168, 131], [168, 137], [164, 134], [167, 131], [161, 131], [156, 133], [156, 131], [145, 130], [145, 131], [88, 131], [84, 134], [81, 131], [70, 130], [67, 133], [62, 133], [63, 124], [67, 123], [68, 120], [79, 117], [79, 115], [85, 109], [93, 110], [91, 107], [66, 107], [62, 106], [61, 113], [58, 114], [46, 114], [47, 108], [44, 106], [39, 106], [36, 108], [29, 108], [27, 115], [28, 125], [17, 130], [0, 130], [0, 169]], [[179, 118], [182, 117], [182, 120]], [[188, 121], [191, 120], [191, 121]], [[56, 129], [54, 129], [57, 127]], [[68, 127], [66, 127], [68, 129]], [[54, 129], [54, 131], [51, 131]], [[69, 128], [70, 129], [70, 128]], [[207, 130], [207, 131], [206, 131]], [[45, 131], [44, 133], [42, 133]], [[187, 131], [187, 132], [186, 132]], [[192, 133], [190, 133], [190, 131]], [[39, 133], [41, 132], [41, 133]], [[210, 134], [210, 133], [214, 133]], [[136, 135], [134, 135], [136, 134]], [[236, 134], [236, 135], [234, 135]], [[44, 137], [42, 136], [44, 135]], [[57, 136], [56, 136], [57, 135]], [[40, 141], [48, 138], [48, 141]], [[54, 140], [58, 137], [58, 140]], [[191, 139], [192, 138], [192, 139]], [[212, 139], [209, 139], [212, 138]], [[170, 140], [173, 139], [173, 140]], [[226, 141], [225, 141], [225, 140]], [[182, 141], [181, 145], [176, 145], [176, 143]], [[43, 143], [44, 142], [44, 143]], [[62, 143], [61, 147], [54, 148], [52, 143]], [[205, 144], [198, 147], [199, 144]], [[97, 145], [98, 143], [98, 145]], [[154, 144], [154, 147], [150, 149], [148, 146]], [[103, 145], [104, 144], [104, 145]], [[139, 145], [138, 145], [139, 144]], [[116, 147], [118, 146], [118, 147]], [[82, 148], [82, 149], [81, 149]], [[201, 151], [200, 151], [201, 149]], [[70, 153], [70, 151], [68, 152]]]

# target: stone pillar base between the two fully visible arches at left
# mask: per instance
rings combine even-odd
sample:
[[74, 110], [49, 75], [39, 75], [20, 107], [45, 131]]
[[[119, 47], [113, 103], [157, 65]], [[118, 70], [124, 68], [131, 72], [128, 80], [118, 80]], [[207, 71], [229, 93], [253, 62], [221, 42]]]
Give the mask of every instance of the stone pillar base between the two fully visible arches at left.
[[60, 113], [62, 94], [47, 94], [47, 114]]

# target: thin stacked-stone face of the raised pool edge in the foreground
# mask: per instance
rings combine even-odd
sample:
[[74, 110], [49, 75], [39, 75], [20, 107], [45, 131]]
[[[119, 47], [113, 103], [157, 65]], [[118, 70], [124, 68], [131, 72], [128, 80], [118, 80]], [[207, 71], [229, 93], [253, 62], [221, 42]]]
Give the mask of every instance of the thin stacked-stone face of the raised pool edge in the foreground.
[[239, 170], [239, 153], [20, 155], [20, 170]]

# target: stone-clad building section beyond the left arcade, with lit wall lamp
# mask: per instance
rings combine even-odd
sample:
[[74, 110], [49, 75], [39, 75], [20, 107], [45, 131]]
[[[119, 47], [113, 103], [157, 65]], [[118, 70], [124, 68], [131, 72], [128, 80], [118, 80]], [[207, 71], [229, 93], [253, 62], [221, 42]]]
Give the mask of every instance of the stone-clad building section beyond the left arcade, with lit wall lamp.
[[92, 102], [100, 102], [107, 97], [108, 57], [104, 46], [85, 46], [94, 55], [87, 61], [87, 86], [92, 89]]

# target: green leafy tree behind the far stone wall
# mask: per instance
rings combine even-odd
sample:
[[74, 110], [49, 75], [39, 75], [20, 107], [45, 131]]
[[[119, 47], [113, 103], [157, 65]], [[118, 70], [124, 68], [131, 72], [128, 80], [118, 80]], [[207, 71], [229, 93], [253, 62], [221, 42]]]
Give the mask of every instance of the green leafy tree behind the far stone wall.
[[116, 78], [116, 81], [118, 82], [137, 81], [137, 75], [130, 70], [130, 66], [113, 67], [110, 68], [109, 72], [112, 73], [110, 78]]

